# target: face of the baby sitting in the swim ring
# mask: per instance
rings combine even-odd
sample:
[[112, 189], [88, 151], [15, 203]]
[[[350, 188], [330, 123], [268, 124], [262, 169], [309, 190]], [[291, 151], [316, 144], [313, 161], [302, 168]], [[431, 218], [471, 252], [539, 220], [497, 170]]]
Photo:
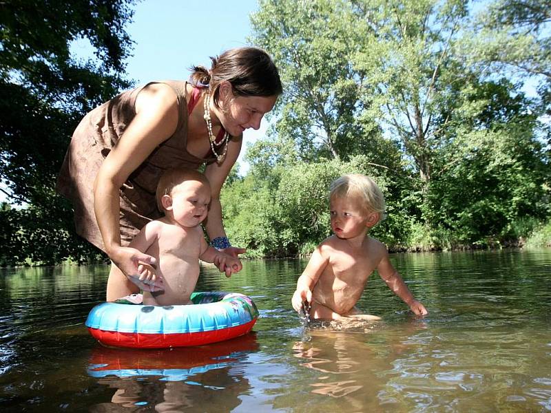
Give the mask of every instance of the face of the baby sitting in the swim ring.
[[209, 213], [211, 189], [198, 180], [187, 180], [171, 191], [172, 215], [181, 226], [190, 228], [200, 224]]

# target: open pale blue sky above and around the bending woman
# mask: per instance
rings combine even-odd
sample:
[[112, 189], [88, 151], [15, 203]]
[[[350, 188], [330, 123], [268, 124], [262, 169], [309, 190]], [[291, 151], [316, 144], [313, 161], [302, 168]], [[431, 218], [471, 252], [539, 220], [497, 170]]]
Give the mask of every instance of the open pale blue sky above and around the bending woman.
[[[186, 80], [191, 65], [211, 66], [209, 56], [247, 43], [251, 34], [249, 15], [258, 9], [257, 0], [144, 0], [134, 6], [133, 22], [126, 31], [134, 49], [126, 60], [127, 77], [136, 83]], [[72, 47], [77, 56], [90, 56], [87, 41]], [[248, 169], [242, 157], [247, 144], [264, 136], [266, 120], [258, 131], [243, 134], [238, 162], [240, 173]]]

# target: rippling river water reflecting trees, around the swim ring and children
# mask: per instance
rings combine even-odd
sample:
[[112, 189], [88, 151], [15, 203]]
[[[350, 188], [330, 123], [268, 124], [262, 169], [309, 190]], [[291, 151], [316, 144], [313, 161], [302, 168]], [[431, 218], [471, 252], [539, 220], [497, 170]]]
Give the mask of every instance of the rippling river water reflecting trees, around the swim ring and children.
[[304, 260], [245, 261], [197, 290], [253, 298], [250, 335], [173, 350], [104, 348], [84, 321], [107, 266], [0, 269], [1, 412], [551, 411], [551, 249], [394, 254], [430, 314], [375, 274], [377, 324], [304, 328]]

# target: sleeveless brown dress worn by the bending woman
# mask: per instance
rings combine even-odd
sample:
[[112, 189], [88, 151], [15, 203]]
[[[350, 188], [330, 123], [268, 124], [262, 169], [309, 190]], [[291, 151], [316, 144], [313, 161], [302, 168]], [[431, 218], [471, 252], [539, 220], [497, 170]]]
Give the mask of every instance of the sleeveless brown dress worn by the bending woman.
[[[153, 82], [155, 83], [155, 82]], [[127, 245], [150, 220], [160, 218], [155, 192], [166, 169], [197, 169], [214, 156], [197, 158], [187, 151], [188, 105], [183, 81], [163, 81], [178, 96], [178, 126], [129, 176], [121, 187], [121, 243]], [[148, 85], [151, 83], [148, 83]], [[76, 233], [105, 251], [94, 214], [94, 180], [101, 164], [136, 116], [136, 96], [147, 85], [128, 90], [87, 114], [74, 131], [61, 167], [57, 191], [72, 201]], [[191, 108], [190, 108], [191, 109]]]

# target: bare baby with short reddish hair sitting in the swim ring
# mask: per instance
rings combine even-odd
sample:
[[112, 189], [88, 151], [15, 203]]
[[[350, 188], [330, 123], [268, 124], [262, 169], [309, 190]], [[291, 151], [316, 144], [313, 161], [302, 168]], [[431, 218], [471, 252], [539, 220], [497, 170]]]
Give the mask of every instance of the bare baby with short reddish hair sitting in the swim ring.
[[157, 268], [140, 264], [140, 277], [132, 282], [143, 287], [160, 278], [164, 284], [164, 290], [154, 293], [144, 290], [143, 304], [191, 304], [189, 297], [199, 277], [199, 259], [226, 268], [227, 277], [241, 271], [242, 264], [237, 258], [205, 241], [200, 224], [209, 212], [211, 188], [202, 173], [187, 168], [169, 169], [158, 182], [156, 199], [165, 216], [148, 222], [129, 244], [152, 255], [158, 263]]

